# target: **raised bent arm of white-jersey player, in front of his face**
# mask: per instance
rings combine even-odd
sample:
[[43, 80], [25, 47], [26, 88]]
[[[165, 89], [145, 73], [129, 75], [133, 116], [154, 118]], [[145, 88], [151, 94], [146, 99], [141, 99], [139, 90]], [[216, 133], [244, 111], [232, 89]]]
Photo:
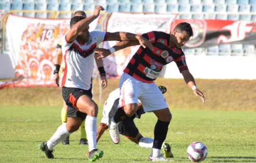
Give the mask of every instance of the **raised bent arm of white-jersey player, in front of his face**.
[[[93, 14], [91, 16], [88, 16], [87, 18], [84, 18], [82, 19], [81, 21], [78, 21], [77, 23], [75, 23], [71, 30], [67, 33], [66, 35], [66, 40], [67, 42], [73, 42], [78, 33], [79, 32], [82, 32], [84, 31], [86, 28], [89, 27], [89, 24], [95, 20], [99, 14], [100, 14], [100, 11], [103, 11], [105, 10], [102, 6], [97, 6], [94, 11], [93, 11]], [[88, 28], [89, 29], [89, 28]]]

